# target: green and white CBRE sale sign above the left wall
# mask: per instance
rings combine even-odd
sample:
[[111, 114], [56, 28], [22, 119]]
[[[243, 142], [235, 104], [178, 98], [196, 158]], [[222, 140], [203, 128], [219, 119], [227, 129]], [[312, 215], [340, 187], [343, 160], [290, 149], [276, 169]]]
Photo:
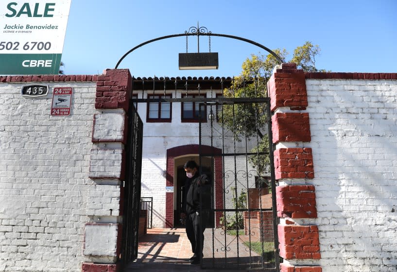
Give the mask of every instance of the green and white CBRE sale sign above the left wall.
[[58, 74], [71, 0], [0, 0], [0, 74]]

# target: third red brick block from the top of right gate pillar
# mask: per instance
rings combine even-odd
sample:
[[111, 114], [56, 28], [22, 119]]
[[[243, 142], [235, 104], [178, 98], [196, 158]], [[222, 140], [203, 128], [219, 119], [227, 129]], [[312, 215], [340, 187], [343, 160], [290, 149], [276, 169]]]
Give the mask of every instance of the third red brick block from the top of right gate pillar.
[[314, 178], [311, 148], [279, 148], [274, 152], [276, 179]]

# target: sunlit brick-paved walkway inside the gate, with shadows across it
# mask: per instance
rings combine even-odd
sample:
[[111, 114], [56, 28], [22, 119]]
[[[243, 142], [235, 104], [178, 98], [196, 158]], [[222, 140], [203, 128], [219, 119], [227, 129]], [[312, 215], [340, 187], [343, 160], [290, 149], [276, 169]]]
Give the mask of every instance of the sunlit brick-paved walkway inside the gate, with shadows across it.
[[[207, 232], [207, 230], [206, 230]], [[209, 235], [209, 233], [207, 234]], [[206, 233], [205, 236], [207, 237]], [[205, 238], [205, 241], [209, 242], [209, 237]], [[215, 246], [215, 244], [214, 244]], [[218, 247], [218, 246], [216, 246]], [[246, 247], [241, 244], [242, 251], [246, 254]], [[219, 246], [221, 249], [221, 246]], [[218, 250], [217, 250], [218, 251]], [[235, 253], [228, 252], [228, 255], [235, 255]], [[215, 251], [214, 251], [215, 252]], [[206, 255], [214, 255], [214, 252], [207, 253]], [[221, 257], [215, 254], [215, 258]], [[189, 239], [186, 236], [184, 228], [173, 228], [173, 229], [148, 229], [147, 234], [139, 239], [138, 242], [138, 258], [136, 261], [130, 263], [126, 268], [125, 272], [215, 272], [216, 270], [201, 269], [200, 265], [190, 265], [189, 258], [192, 256], [191, 246]], [[224, 252], [222, 253], [224, 255]], [[253, 254], [254, 255], [254, 254]], [[256, 254], [255, 254], [256, 255]], [[254, 256], [252, 256], [254, 257]], [[258, 255], [255, 257], [258, 258]], [[211, 259], [212, 260], [212, 259]], [[234, 270], [236, 271], [236, 270]], [[243, 269], [242, 271], [247, 271]]]

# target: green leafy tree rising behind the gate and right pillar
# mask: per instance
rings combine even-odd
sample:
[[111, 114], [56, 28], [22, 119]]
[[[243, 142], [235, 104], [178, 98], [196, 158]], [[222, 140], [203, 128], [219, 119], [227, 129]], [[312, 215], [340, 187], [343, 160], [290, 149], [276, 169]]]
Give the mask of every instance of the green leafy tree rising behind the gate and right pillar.
[[[288, 51], [286, 49], [273, 50], [283, 62], [286, 62]], [[318, 70], [315, 66], [315, 57], [320, 53], [318, 45], [307, 41], [303, 46], [298, 46], [293, 52], [293, 58], [289, 62], [295, 62], [298, 68], [305, 71]], [[266, 82], [273, 69], [279, 64], [272, 54], [251, 54], [242, 63], [242, 72], [234, 78], [230, 89], [224, 89], [224, 97], [267, 97]], [[250, 153], [258, 155], [248, 156], [248, 162], [256, 168], [259, 175], [267, 172], [270, 165], [269, 136], [260, 128], [266, 127], [267, 108], [264, 103], [243, 103], [224, 105], [223, 115], [220, 121], [226, 128], [232, 131], [238, 141], [243, 138], [258, 138], [257, 147], [251, 149]]]

